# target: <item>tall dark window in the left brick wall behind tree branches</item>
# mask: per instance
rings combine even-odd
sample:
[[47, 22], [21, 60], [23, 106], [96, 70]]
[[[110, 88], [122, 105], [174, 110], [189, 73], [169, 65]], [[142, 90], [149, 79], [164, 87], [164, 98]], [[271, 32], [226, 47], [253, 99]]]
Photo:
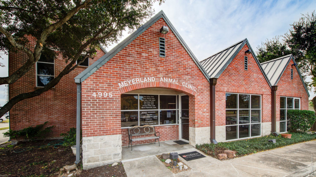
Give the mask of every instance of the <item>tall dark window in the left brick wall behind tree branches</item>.
[[40, 60], [36, 62], [36, 86], [44, 87], [54, 78], [54, 55], [41, 54]]

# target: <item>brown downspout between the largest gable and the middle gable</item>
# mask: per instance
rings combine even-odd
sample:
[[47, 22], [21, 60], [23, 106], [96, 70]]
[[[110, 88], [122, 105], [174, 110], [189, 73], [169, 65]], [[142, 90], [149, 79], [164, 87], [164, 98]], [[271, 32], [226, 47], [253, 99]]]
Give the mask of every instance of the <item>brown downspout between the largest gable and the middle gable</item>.
[[210, 78], [210, 141], [217, 144], [215, 140], [215, 85], [216, 78]]

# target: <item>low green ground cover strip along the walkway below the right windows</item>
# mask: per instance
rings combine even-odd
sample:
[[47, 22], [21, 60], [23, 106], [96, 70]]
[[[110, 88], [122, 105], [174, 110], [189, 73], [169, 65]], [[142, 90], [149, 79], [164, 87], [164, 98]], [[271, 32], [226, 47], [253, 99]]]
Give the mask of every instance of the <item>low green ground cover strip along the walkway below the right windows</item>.
[[[282, 138], [281, 135], [275, 137], [273, 135], [252, 138], [247, 140], [230, 141], [230, 142], [220, 142], [216, 145], [214, 144], [202, 144], [197, 145], [196, 148], [206, 154], [216, 157], [219, 151], [222, 150], [232, 150], [236, 151], [237, 156], [245, 156], [252, 153], [257, 153], [260, 151], [266, 151], [270, 149], [275, 149], [278, 147], [288, 146], [300, 142], [316, 140], [316, 134], [307, 133], [293, 133], [292, 138]], [[268, 140], [276, 139], [276, 143], [269, 142]]]

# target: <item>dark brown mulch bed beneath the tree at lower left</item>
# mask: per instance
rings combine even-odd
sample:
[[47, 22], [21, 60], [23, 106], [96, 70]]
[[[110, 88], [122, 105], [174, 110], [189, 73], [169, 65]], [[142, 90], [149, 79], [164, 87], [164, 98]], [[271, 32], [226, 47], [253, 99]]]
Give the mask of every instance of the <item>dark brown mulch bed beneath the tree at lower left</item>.
[[[53, 140], [39, 140], [32, 142], [19, 142], [15, 146], [0, 146], [0, 176], [8, 177], [67, 177], [68, 174], [60, 172], [64, 165], [73, 164], [76, 156], [70, 147], [45, 146]], [[64, 151], [58, 151], [63, 150]], [[121, 163], [115, 167], [106, 165], [89, 170], [71, 171], [73, 177], [105, 176], [125, 177], [125, 170]]]

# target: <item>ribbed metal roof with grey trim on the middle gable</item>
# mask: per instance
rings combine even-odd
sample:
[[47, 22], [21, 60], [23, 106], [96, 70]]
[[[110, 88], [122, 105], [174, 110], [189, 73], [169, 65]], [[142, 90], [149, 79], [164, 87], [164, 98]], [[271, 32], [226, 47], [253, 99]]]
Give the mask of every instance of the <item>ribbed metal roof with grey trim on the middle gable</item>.
[[265, 77], [267, 83], [271, 88], [271, 84], [269, 79], [266, 77], [264, 70], [262, 69], [259, 60], [256, 55], [253, 54], [254, 50], [252, 50], [247, 38], [235, 43], [228, 48], [217, 52], [216, 54], [200, 61], [201, 65], [204, 67], [204, 70], [207, 72], [210, 78], [219, 78], [227, 66], [233, 61], [235, 56], [240, 52], [240, 50], [244, 47], [244, 45], [248, 46], [248, 48], [252, 51], [252, 56], [255, 59], [258, 67], [260, 68], [263, 76]]

